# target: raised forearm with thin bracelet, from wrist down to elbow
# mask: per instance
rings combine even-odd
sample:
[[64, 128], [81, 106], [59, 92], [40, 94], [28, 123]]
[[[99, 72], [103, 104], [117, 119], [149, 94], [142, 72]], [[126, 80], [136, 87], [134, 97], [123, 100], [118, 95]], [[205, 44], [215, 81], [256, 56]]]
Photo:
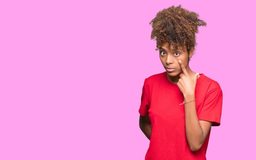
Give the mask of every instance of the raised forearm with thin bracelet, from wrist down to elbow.
[[[184, 96], [185, 102], [189, 102], [195, 99], [195, 95]], [[186, 125], [186, 137], [189, 143], [189, 147], [192, 151], [196, 151], [201, 148], [204, 140], [204, 132], [198, 120], [195, 101], [184, 104], [185, 105], [185, 125]]]

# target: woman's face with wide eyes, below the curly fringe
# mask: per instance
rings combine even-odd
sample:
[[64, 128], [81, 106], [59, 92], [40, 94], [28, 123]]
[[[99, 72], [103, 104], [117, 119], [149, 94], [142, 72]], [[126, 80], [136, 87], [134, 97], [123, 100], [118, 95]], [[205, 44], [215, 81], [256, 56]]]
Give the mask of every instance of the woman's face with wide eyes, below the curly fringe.
[[[163, 64], [163, 67], [166, 69], [168, 76], [175, 77], [180, 75], [182, 72], [179, 60], [183, 62], [186, 69], [189, 67], [189, 58], [193, 55], [192, 52], [188, 53], [187, 51], [184, 52], [181, 47], [177, 47], [176, 51], [173, 51], [174, 46], [170, 46], [170, 50], [166, 48], [168, 43], [162, 45], [159, 49], [159, 57]], [[186, 49], [185, 49], [186, 50]]]

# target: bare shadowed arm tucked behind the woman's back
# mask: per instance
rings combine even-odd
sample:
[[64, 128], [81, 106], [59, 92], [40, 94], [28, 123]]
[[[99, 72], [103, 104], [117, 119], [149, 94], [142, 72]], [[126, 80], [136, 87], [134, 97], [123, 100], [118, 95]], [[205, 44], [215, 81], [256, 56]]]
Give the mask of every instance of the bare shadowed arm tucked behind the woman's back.
[[151, 122], [149, 120], [149, 116], [141, 116], [140, 115], [140, 129], [145, 134], [145, 136], [150, 140], [151, 138]]

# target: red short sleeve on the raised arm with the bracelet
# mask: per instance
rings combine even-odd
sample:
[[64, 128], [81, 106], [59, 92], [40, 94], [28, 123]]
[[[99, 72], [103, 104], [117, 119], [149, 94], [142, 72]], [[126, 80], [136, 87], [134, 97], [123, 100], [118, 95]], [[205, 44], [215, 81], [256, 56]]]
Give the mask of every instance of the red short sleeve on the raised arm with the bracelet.
[[213, 122], [212, 126], [221, 125], [222, 100], [221, 88], [215, 88], [207, 93], [198, 120]]

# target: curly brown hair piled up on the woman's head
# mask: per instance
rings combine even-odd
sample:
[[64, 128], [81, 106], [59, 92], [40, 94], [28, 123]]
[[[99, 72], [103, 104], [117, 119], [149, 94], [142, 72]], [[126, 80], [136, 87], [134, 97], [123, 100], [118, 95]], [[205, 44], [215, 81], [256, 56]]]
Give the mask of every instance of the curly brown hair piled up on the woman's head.
[[157, 41], [158, 50], [165, 42], [178, 46], [187, 52], [196, 46], [195, 33], [198, 33], [198, 26], [206, 26], [206, 22], [200, 20], [195, 12], [189, 12], [180, 6], [171, 6], [158, 12], [156, 17], [149, 24], [152, 25], [151, 39]]

